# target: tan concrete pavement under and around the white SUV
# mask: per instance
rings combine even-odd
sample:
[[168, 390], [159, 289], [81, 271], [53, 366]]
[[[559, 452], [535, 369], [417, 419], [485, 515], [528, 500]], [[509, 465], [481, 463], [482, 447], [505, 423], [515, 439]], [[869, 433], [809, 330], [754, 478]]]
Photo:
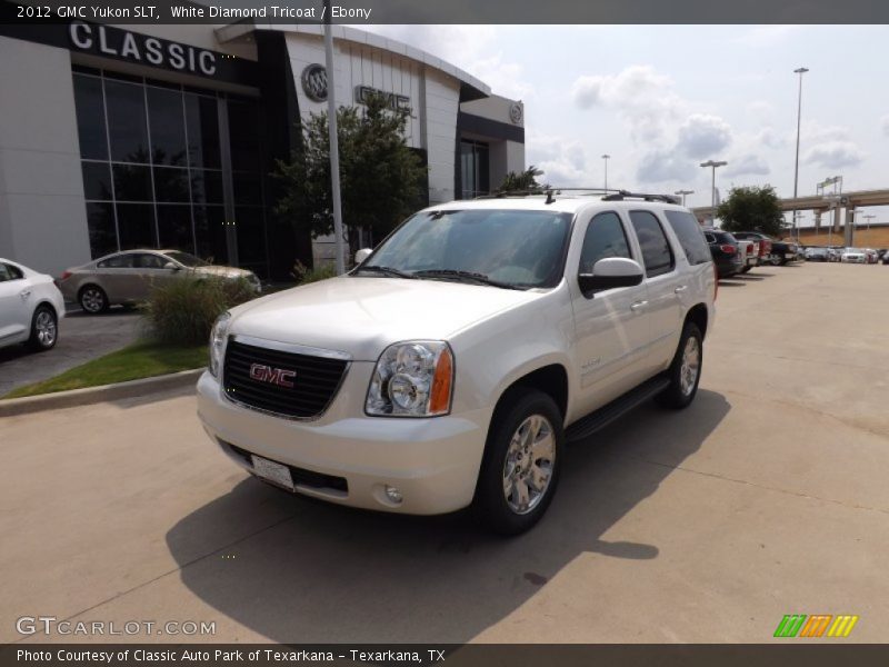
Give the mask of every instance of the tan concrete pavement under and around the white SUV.
[[[855, 614], [845, 640], [882, 641], [881, 269], [758, 269], [720, 289], [693, 406], [645, 406], [571, 447], [549, 514], [516, 539], [266, 487], [189, 395], [7, 418], [0, 641], [103, 639], [17, 633], [46, 615], [216, 624], [188, 640], [762, 643], [785, 614]], [[183, 639], [154, 633], [113, 639]]]

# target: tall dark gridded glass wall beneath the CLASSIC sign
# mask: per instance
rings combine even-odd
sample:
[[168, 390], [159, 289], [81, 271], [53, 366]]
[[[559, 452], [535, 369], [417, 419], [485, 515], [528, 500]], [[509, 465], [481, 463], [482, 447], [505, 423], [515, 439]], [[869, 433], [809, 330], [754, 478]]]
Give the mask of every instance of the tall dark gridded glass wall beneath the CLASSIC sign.
[[268, 276], [257, 100], [76, 68], [92, 257], [176, 248]]

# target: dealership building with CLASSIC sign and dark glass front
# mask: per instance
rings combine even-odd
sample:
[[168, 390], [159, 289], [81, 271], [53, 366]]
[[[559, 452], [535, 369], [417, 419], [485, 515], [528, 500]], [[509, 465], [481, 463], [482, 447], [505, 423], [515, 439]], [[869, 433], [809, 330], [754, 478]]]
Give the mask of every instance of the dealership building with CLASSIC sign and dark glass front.
[[[334, 101], [379, 91], [410, 109], [430, 203], [525, 168], [520, 101], [407, 44], [332, 30]], [[274, 212], [270, 175], [298, 146], [296, 120], [327, 110], [323, 63], [319, 26], [0, 22], [0, 256], [58, 276], [178, 248], [287, 279], [326, 249]]]

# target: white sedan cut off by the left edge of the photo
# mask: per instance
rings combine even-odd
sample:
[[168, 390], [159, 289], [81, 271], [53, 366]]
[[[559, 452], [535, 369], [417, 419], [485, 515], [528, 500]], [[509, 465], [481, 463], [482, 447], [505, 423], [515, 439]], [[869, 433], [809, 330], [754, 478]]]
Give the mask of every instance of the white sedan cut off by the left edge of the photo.
[[52, 277], [0, 257], [0, 347], [51, 349], [63, 317], [64, 299]]

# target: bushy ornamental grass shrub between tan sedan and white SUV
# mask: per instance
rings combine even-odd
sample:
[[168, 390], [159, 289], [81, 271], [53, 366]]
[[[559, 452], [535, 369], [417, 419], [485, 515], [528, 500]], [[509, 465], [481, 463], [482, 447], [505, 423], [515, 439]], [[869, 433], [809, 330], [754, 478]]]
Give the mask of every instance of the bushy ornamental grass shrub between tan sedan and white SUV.
[[154, 289], [141, 309], [151, 338], [200, 344], [210, 337], [216, 318], [256, 296], [243, 278], [181, 278]]

